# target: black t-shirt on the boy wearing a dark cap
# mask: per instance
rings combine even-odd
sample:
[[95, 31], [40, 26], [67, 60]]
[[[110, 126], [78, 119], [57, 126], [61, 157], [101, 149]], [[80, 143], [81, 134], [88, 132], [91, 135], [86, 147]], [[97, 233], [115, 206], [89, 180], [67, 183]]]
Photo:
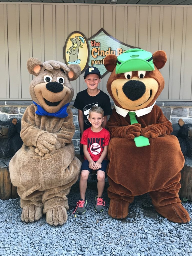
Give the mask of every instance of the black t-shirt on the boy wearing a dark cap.
[[103, 109], [104, 115], [112, 114], [109, 96], [101, 90], [96, 96], [90, 96], [87, 89], [78, 92], [73, 106], [83, 111], [84, 130], [91, 126], [88, 120], [89, 110], [91, 107], [99, 106]]

